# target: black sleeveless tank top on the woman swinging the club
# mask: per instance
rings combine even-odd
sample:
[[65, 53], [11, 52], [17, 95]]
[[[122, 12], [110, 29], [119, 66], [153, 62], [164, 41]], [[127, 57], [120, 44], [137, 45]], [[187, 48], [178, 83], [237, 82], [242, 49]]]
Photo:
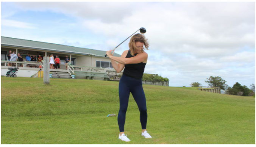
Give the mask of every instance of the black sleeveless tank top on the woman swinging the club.
[[[136, 56], [138, 53], [134, 54]], [[130, 53], [130, 49], [126, 55], [125, 58], [131, 58], [134, 57]], [[142, 78], [144, 69], [145, 69], [146, 63], [137, 63], [137, 64], [126, 64], [125, 65], [125, 70], [123, 70], [123, 74], [132, 77], [132, 78]]]

